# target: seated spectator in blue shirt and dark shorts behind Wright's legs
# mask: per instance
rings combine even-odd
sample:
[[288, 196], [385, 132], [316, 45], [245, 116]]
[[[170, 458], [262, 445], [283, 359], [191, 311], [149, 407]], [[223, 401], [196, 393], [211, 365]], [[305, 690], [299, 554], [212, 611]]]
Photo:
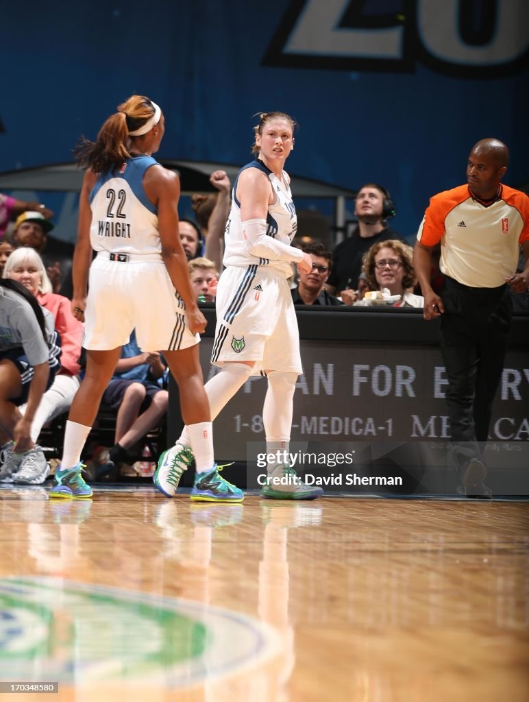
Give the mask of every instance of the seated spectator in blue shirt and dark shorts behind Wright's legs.
[[159, 425], [169, 399], [167, 390], [158, 384], [166, 369], [159, 352], [140, 350], [133, 331], [121, 348], [121, 359], [102, 398], [103, 404], [117, 412], [115, 444], [98, 475], [91, 477], [97, 479], [105, 473], [117, 477], [121, 464], [128, 462], [130, 449]]

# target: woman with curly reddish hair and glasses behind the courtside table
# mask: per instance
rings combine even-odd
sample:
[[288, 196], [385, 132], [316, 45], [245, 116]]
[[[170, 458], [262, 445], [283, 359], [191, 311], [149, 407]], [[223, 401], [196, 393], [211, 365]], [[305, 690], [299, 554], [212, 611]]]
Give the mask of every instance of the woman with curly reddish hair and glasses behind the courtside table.
[[[392, 301], [394, 307], [424, 307], [424, 298], [414, 295], [412, 290], [417, 282], [413, 270], [413, 249], [398, 239], [388, 239], [373, 244], [363, 257], [363, 273], [370, 290], [382, 293], [384, 289], [389, 297], [400, 296]], [[355, 305], [369, 305], [368, 295]]]

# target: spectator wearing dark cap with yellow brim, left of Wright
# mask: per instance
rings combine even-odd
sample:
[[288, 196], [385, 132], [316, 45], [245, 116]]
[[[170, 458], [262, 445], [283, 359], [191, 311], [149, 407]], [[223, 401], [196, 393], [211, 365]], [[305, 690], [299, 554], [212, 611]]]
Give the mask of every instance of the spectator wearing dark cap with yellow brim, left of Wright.
[[40, 212], [25, 211], [17, 218], [13, 230], [15, 246], [31, 246], [42, 257], [53, 292], [58, 293], [65, 281], [71, 291], [74, 245], [50, 236], [53, 224]]

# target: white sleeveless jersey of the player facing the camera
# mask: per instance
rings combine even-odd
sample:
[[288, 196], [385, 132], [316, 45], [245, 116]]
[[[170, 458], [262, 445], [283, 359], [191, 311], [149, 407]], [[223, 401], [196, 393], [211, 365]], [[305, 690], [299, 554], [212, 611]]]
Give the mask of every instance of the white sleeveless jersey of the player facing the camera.
[[297, 217], [290, 186], [286, 180], [286, 174], [283, 171], [281, 178], [278, 178], [262, 161], [252, 161], [250, 164], [246, 164], [246, 166], [241, 168], [235, 179], [232, 209], [229, 213], [229, 219], [226, 225], [225, 254], [222, 263], [224, 263], [226, 267], [230, 265], [247, 267], [248, 265], [255, 264], [267, 266], [269, 268], [274, 268], [283, 274], [284, 277], [288, 278], [292, 275], [292, 266], [288, 261], [260, 258], [244, 250], [241, 203], [236, 198], [236, 190], [239, 176], [246, 168], [257, 168], [259, 171], [266, 173], [276, 196], [274, 204], [268, 206], [267, 237], [274, 237], [277, 241], [290, 245], [297, 230]]

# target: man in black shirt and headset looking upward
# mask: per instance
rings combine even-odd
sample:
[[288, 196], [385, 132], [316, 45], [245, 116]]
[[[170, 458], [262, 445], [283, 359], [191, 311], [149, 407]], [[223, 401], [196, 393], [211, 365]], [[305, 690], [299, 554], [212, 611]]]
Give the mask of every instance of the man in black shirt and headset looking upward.
[[356, 195], [354, 215], [358, 226], [352, 236], [333, 251], [333, 270], [327, 282], [327, 289], [333, 294], [341, 294], [344, 290], [356, 291], [362, 257], [370, 246], [384, 239], [403, 239], [401, 234], [387, 227], [387, 220], [395, 216], [395, 206], [382, 185], [362, 185]]

